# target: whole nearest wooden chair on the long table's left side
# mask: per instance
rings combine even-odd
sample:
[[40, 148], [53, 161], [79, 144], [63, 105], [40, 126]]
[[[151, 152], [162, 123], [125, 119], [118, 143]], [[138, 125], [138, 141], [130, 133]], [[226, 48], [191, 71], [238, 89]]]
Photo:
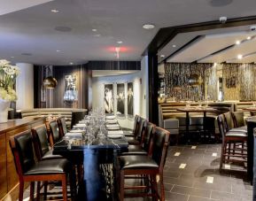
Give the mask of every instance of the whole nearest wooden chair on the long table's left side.
[[30, 200], [33, 200], [35, 182], [40, 181], [60, 181], [62, 183], [63, 200], [66, 201], [66, 174], [71, 170], [68, 161], [66, 159], [54, 159], [42, 160], [36, 163], [30, 130], [11, 136], [9, 143], [16, 171], [19, 174], [19, 201], [23, 200], [25, 182], [30, 182]]

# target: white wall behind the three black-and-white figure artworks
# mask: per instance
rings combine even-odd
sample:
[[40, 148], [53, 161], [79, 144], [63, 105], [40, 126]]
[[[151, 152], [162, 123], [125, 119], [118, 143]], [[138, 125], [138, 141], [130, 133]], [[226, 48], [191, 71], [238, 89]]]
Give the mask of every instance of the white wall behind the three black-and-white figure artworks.
[[[94, 77], [92, 79], [92, 108], [104, 106], [105, 84], [113, 84], [113, 94], [117, 94], [117, 83], [125, 83], [125, 92], [127, 92], [127, 83], [133, 82], [134, 86], [134, 114], [148, 118], [148, 64], [147, 57], [141, 61], [141, 71], [126, 75]], [[125, 95], [127, 98], [127, 94]], [[116, 98], [116, 97], [114, 97]], [[114, 100], [114, 113], [116, 112], [116, 101]], [[125, 101], [125, 114], [127, 114], [127, 101]], [[133, 128], [134, 118], [118, 117], [121, 127]]]

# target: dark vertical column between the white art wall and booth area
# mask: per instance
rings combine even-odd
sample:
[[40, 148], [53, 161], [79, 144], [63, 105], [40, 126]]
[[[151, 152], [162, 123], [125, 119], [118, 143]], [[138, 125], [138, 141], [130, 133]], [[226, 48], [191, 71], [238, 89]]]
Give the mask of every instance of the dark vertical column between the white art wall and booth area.
[[159, 73], [158, 73], [158, 56], [154, 52], [148, 53], [149, 64], [149, 120], [158, 125], [159, 124], [159, 105], [158, 105], [158, 87], [159, 87]]

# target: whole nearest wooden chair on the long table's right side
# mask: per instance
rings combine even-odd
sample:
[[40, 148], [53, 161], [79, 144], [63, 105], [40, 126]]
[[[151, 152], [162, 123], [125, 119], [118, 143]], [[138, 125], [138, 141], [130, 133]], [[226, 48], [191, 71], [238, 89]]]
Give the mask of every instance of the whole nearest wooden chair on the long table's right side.
[[[151, 139], [149, 156], [128, 155], [120, 156], [120, 201], [124, 197], [154, 197], [155, 199], [165, 200], [165, 189], [163, 183], [163, 169], [167, 158], [167, 148], [170, 141], [170, 133], [163, 128], [156, 127], [155, 133]], [[160, 195], [156, 182], [156, 176], [159, 174]], [[125, 186], [125, 180], [130, 179], [130, 175], [148, 181], [148, 184], [140, 186]], [[133, 178], [133, 177], [132, 177]], [[142, 193], [128, 193], [125, 195], [125, 189], [145, 189]], [[149, 190], [151, 189], [151, 190]]]

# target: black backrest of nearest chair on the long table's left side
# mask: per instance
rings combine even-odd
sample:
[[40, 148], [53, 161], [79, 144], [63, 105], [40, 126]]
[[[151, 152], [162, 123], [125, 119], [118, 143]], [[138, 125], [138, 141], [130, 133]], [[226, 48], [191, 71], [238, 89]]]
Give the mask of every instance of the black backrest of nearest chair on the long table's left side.
[[35, 156], [32, 144], [31, 130], [13, 135], [9, 140], [15, 166], [19, 176], [35, 165]]

